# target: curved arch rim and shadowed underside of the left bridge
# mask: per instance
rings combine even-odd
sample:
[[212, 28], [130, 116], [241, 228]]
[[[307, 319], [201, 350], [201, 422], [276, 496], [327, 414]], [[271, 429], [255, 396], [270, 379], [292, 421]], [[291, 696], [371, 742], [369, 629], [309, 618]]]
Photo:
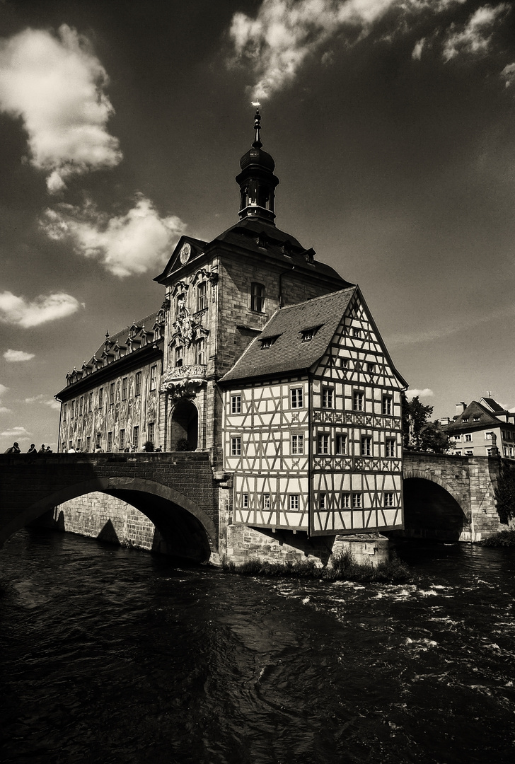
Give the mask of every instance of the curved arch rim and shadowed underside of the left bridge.
[[16, 530], [59, 504], [96, 491], [125, 501], [147, 516], [169, 554], [203, 562], [217, 551], [215, 523], [195, 502], [170, 486], [142, 478], [95, 478], [67, 485], [28, 507]]

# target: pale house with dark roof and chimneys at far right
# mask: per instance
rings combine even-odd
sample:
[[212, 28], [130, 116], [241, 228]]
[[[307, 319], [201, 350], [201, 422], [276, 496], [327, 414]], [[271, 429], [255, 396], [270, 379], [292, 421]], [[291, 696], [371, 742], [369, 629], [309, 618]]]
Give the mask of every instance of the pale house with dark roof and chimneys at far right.
[[515, 413], [493, 398], [456, 404], [456, 416], [439, 420], [460, 456], [501, 456], [515, 459]]

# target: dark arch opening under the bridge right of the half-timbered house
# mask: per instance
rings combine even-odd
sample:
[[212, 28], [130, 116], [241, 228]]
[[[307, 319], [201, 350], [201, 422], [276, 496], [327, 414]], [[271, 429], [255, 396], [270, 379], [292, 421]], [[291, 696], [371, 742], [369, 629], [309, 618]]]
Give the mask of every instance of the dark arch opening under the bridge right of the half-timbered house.
[[406, 470], [403, 478], [403, 535], [457, 541], [469, 521], [455, 487], [423, 470]]

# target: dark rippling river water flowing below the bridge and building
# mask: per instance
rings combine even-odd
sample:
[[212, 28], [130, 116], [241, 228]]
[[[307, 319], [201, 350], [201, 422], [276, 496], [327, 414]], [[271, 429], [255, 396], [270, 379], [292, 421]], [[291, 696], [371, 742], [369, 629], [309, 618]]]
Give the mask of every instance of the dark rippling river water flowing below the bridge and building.
[[2, 762], [515, 760], [515, 554], [244, 578], [41, 529], [0, 551]]

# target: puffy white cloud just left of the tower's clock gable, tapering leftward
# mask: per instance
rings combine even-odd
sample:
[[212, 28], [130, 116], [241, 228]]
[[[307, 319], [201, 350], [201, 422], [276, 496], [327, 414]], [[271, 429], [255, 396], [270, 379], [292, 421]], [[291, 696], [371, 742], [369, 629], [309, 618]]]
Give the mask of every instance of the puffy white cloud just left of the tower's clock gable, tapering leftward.
[[92, 202], [83, 208], [60, 204], [47, 209], [41, 227], [50, 238], [69, 239], [84, 257], [96, 257], [110, 273], [124, 278], [158, 270], [186, 225], [170, 215], [160, 218], [141, 194], [125, 215], [109, 218]]

